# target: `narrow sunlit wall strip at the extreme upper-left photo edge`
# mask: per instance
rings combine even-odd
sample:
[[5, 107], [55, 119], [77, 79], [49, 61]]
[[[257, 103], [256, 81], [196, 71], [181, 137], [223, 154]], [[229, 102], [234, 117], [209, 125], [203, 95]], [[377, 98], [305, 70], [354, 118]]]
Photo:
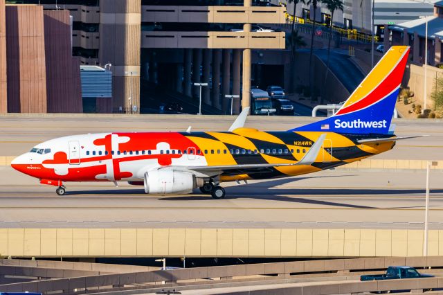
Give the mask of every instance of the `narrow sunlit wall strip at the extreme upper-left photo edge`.
[[0, 0], [0, 114], [8, 112], [6, 90], [6, 15], [5, 0]]

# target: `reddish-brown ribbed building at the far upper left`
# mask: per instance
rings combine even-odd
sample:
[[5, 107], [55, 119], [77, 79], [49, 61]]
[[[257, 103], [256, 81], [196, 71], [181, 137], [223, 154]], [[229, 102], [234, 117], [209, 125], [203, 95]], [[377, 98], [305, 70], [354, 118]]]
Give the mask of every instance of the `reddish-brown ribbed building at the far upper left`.
[[69, 12], [2, 0], [0, 24], [0, 112], [80, 112]]

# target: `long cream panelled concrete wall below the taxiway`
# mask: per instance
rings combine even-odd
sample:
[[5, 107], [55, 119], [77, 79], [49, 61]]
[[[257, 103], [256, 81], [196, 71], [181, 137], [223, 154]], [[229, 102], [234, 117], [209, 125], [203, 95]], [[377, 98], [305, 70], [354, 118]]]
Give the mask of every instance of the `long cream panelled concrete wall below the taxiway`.
[[[14, 257], [421, 256], [424, 231], [406, 229], [0, 229]], [[443, 230], [428, 255], [443, 256]]]

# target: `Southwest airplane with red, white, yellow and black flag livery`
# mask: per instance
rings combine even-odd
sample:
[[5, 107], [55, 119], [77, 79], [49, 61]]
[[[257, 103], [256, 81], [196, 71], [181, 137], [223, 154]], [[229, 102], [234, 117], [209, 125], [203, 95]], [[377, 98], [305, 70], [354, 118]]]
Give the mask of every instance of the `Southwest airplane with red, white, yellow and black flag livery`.
[[287, 131], [244, 127], [244, 108], [227, 132], [126, 132], [45, 141], [12, 168], [66, 192], [69, 181], [127, 181], [147, 194], [201, 193], [222, 199], [224, 181], [293, 177], [360, 161], [394, 147], [391, 125], [408, 46], [392, 46], [336, 114]]

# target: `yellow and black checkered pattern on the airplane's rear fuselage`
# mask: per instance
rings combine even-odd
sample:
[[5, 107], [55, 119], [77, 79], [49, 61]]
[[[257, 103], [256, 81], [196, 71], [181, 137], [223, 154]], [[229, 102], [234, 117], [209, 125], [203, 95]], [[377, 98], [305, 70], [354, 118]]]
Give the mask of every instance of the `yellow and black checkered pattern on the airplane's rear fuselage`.
[[238, 128], [233, 132], [182, 133], [199, 147], [208, 166], [297, 163], [321, 134], [326, 134], [326, 138], [311, 166], [231, 169], [226, 170], [220, 179], [233, 181], [303, 175], [359, 161], [386, 152], [395, 145], [394, 141], [360, 144], [357, 141], [368, 138], [368, 135], [334, 132], [262, 132]]

